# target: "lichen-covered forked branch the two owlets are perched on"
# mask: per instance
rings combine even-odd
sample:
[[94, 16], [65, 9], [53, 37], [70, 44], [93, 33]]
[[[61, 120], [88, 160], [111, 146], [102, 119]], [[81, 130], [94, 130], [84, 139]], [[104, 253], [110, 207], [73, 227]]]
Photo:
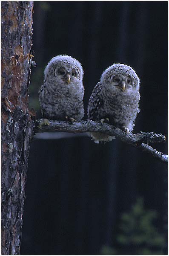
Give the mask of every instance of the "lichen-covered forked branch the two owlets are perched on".
[[140, 134], [124, 134], [120, 128], [107, 123], [101, 124], [91, 120], [80, 122], [66, 122], [49, 119], [35, 120], [35, 133], [45, 131], [63, 131], [71, 133], [102, 132], [104, 134], [119, 138], [126, 144], [133, 145], [141, 151], [152, 154], [163, 163], [168, 163], [168, 155], [162, 154], [147, 143], [164, 143], [166, 137], [163, 134], [153, 132], [140, 132]]

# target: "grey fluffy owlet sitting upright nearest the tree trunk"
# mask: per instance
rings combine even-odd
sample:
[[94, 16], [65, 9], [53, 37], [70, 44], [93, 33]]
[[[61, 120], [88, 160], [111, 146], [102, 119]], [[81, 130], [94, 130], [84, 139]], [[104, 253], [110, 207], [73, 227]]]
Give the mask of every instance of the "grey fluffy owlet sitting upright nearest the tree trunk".
[[52, 58], [44, 71], [45, 79], [39, 90], [44, 118], [79, 121], [84, 116], [83, 68], [68, 56]]

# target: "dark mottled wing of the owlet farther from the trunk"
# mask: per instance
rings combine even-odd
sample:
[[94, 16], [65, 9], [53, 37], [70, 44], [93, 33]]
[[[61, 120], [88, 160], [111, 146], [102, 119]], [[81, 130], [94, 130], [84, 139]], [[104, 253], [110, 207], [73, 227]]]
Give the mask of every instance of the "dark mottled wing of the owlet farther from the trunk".
[[102, 84], [101, 82], [98, 82], [94, 87], [92, 91], [92, 95], [90, 96], [90, 99], [89, 99], [88, 118], [95, 121], [100, 121], [98, 110], [103, 105], [103, 99], [100, 94], [101, 90], [102, 90]]

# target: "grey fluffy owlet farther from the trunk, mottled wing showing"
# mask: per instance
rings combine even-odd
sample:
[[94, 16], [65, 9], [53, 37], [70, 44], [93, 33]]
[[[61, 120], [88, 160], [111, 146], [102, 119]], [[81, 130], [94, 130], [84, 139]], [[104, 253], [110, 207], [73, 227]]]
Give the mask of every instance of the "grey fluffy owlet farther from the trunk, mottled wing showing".
[[[88, 118], [109, 122], [125, 132], [133, 130], [139, 112], [140, 80], [125, 64], [107, 68], [92, 91], [88, 105]], [[101, 133], [90, 134], [95, 141], [111, 141], [113, 137]]]

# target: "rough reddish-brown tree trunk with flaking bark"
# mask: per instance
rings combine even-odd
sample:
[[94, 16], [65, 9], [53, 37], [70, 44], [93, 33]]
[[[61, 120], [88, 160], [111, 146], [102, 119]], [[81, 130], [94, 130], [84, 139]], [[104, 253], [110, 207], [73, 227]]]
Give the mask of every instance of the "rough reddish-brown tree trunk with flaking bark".
[[30, 140], [33, 2], [2, 2], [2, 254], [20, 254]]

